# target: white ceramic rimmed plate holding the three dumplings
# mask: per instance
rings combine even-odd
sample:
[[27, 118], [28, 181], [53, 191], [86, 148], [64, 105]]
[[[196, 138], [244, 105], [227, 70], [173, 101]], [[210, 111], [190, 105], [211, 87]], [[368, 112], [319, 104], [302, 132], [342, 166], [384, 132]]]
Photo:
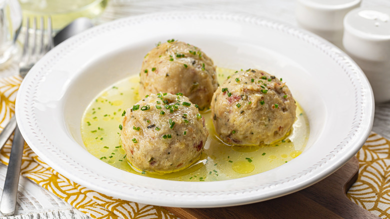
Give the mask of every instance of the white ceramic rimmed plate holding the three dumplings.
[[[287, 81], [310, 122], [305, 151], [272, 170], [238, 179], [180, 182], [135, 175], [88, 153], [80, 119], [103, 88], [139, 72], [158, 41], [200, 47], [217, 66], [259, 68]], [[23, 80], [20, 131], [34, 152], [67, 178], [114, 197], [163, 206], [251, 203], [307, 187], [347, 162], [373, 121], [363, 72], [342, 51], [298, 28], [243, 14], [170, 12], [96, 26], [48, 52]]]

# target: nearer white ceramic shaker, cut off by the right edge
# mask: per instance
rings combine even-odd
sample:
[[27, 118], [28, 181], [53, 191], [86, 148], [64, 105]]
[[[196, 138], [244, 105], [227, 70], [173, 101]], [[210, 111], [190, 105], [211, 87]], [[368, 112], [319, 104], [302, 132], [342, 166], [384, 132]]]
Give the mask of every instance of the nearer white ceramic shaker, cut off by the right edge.
[[351, 10], [344, 18], [342, 42], [367, 76], [375, 102], [390, 100], [390, 8]]

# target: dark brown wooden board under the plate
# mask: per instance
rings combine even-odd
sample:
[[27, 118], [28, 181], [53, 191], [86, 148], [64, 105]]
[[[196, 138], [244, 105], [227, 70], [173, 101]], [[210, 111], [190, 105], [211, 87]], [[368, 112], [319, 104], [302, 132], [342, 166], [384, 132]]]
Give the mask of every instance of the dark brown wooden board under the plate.
[[180, 218], [379, 218], [346, 197], [358, 176], [350, 159], [330, 176], [289, 195], [258, 203], [216, 208], [165, 207]]

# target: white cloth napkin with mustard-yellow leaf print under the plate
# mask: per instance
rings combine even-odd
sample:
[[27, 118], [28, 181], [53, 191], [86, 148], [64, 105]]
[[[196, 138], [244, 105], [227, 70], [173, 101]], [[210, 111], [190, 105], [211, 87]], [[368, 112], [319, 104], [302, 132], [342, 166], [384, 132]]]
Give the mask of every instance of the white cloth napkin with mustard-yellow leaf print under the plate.
[[[14, 111], [21, 78], [0, 79], [0, 129]], [[0, 161], [8, 164], [11, 141], [0, 151]], [[371, 133], [357, 153], [360, 169], [349, 189], [350, 200], [373, 214], [390, 218], [390, 141]], [[21, 175], [62, 198], [92, 218], [177, 218], [162, 207], [113, 198], [83, 187], [56, 172], [24, 145]]]

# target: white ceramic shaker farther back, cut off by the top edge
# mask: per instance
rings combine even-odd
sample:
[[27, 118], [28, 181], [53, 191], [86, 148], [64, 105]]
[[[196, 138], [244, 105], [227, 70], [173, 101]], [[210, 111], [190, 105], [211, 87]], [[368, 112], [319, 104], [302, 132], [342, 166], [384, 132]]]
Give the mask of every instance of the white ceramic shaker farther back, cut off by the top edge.
[[296, 0], [298, 26], [307, 29], [342, 49], [342, 21], [345, 14], [360, 6], [361, 0]]

